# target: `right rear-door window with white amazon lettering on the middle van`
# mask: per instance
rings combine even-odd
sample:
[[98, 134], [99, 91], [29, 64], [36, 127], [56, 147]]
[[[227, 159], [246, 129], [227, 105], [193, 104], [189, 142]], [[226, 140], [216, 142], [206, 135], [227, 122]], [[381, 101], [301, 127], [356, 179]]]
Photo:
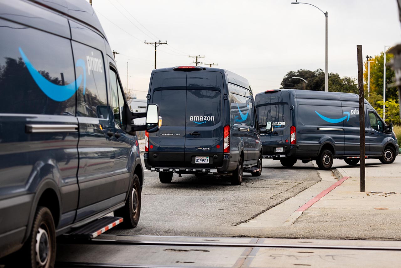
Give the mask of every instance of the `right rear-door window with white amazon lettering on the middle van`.
[[208, 127], [216, 125], [220, 121], [221, 93], [219, 91], [187, 90], [186, 126]]

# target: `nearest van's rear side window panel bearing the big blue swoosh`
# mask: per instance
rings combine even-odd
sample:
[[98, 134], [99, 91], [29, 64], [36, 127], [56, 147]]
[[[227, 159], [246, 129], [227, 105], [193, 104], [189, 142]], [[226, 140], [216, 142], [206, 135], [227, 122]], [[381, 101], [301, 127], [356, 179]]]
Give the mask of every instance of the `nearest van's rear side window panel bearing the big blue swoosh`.
[[2, 19], [0, 24], [0, 113], [75, 116], [78, 58], [74, 62], [70, 41]]

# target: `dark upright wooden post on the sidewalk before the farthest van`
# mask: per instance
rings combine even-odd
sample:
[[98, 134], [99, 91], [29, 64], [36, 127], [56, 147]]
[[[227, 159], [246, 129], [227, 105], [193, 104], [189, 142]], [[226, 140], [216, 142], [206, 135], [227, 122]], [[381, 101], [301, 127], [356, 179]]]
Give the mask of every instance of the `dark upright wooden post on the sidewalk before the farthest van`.
[[359, 90], [360, 192], [365, 192], [365, 92], [363, 91], [362, 45], [356, 46], [356, 55]]

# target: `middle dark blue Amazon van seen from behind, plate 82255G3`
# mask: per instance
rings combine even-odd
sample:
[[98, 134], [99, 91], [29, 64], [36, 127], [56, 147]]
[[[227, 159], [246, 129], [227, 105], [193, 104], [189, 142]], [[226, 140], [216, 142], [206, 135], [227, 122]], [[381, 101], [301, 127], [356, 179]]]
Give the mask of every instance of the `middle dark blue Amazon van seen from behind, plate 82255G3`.
[[260, 176], [262, 147], [252, 90], [230, 71], [199, 66], [153, 70], [148, 103], [160, 106], [158, 133], [146, 133], [145, 166], [169, 183], [173, 173]]

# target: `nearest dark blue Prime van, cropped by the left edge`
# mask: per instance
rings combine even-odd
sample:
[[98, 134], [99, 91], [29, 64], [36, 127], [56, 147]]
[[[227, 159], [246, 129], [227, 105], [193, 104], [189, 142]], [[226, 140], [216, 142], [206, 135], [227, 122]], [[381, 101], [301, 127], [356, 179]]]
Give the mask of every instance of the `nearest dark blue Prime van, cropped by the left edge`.
[[0, 10], [0, 258], [20, 250], [12, 267], [53, 267], [57, 235], [100, 218], [107, 226], [112, 211], [110, 224], [138, 224], [135, 131], [157, 131], [158, 110], [132, 123], [144, 114], [130, 111], [87, 2], [2, 1]]

